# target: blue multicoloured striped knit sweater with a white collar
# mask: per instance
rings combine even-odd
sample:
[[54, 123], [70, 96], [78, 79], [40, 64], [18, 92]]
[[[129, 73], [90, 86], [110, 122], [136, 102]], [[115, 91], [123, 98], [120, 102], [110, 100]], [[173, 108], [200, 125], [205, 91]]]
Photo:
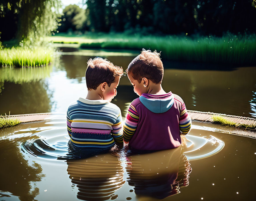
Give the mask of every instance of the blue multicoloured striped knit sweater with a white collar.
[[67, 109], [67, 131], [73, 145], [108, 149], [123, 144], [121, 110], [107, 100], [79, 98]]

